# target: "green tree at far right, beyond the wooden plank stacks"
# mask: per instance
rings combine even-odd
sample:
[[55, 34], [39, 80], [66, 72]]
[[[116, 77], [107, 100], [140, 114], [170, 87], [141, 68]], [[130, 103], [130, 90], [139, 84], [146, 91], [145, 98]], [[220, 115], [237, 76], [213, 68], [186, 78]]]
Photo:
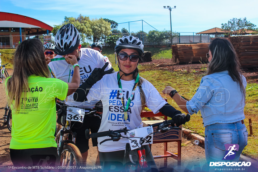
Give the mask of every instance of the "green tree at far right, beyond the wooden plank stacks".
[[254, 27], [256, 27], [256, 25], [251, 23], [250, 21], [247, 21], [246, 17], [243, 19], [233, 18], [230, 19], [228, 23], [221, 24], [221, 28], [230, 31], [230, 35], [242, 35], [243, 33], [245, 33], [246, 30], [254, 30]]

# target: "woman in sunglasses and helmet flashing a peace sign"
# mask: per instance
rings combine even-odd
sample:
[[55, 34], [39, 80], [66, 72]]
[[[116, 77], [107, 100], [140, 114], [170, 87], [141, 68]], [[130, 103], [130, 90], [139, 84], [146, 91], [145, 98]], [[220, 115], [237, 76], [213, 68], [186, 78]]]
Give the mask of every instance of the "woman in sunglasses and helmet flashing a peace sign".
[[[74, 93], [75, 101], [100, 99], [103, 102], [103, 116], [98, 132], [143, 127], [140, 114], [145, 105], [154, 113], [162, 112], [173, 118], [177, 126], [186, 123], [186, 115], [169, 105], [149, 81], [139, 76], [137, 66], [144, 53], [143, 47], [142, 41], [134, 36], [119, 38], [115, 46], [119, 71], [104, 75], [103, 69], [94, 69], [91, 76]], [[98, 138], [98, 143], [106, 138], [108, 137]], [[115, 171], [123, 171], [127, 143], [129, 140], [122, 138], [117, 142], [98, 144], [99, 158], [104, 170], [110, 170], [114, 165]], [[149, 167], [152, 171], [157, 171], [149, 146], [145, 145], [144, 148]]]

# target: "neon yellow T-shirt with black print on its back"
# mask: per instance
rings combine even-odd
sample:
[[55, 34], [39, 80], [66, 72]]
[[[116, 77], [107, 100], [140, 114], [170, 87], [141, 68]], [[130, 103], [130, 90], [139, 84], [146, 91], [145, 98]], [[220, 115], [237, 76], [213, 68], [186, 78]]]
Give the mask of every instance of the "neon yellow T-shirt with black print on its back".
[[[12, 109], [10, 149], [57, 147], [55, 97], [65, 100], [68, 84], [56, 78], [29, 76], [30, 92], [21, 99], [20, 109]], [[5, 83], [6, 84], [6, 83]]]

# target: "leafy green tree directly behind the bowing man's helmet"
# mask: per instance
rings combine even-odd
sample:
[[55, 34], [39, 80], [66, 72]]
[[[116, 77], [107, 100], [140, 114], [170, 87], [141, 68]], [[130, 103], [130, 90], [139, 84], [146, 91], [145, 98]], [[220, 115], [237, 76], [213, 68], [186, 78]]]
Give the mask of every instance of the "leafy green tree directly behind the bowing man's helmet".
[[54, 25], [54, 28], [52, 30], [53, 36], [57, 34], [57, 31], [64, 24], [68, 24], [68, 23], [73, 24], [76, 27], [76, 29], [79, 31], [82, 42], [84, 42], [84, 39], [86, 37], [88, 39], [91, 39], [91, 36], [92, 36], [92, 30], [90, 27], [91, 20], [89, 17], [83, 16], [82, 14], [80, 14], [77, 18], [65, 16], [65, 21], [63, 21], [62, 24]]

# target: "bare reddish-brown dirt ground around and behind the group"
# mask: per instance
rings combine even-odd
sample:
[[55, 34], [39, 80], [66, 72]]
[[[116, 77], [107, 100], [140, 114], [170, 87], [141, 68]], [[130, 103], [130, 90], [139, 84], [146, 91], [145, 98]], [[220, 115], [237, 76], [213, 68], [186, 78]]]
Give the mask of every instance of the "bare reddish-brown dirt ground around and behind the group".
[[[189, 64], [189, 65], [177, 65], [172, 66], [170, 59], [160, 59], [153, 60], [152, 62], [140, 63], [148, 68], [156, 68], [160, 70], [195, 70], [202, 72], [202, 69], [207, 67], [207, 64]], [[147, 64], [147, 65], [146, 65]], [[11, 75], [12, 70], [8, 71]], [[252, 69], [248, 70], [248, 73], [245, 73], [246, 77], [250, 77], [252, 82], [258, 83], [258, 70]], [[0, 84], [0, 172], [2, 171], [11, 171], [8, 168], [12, 166], [12, 161], [9, 155], [9, 144], [11, 140], [11, 133], [7, 129], [6, 124], [3, 122], [4, 115], [4, 107], [6, 105], [5, 99], [5, 91], [3, 84]], [[90, 142], [91, 143], [91, 142]], [[182, 137], [182, 153], [181, 153], [181, 161], [182, 166], [186, 167], [187, 165], [201, 165], [205, 164], [205, 152], [204, 148], [201, 146], [195, 145], [193, 141], [189, 141], [185, 136]], [[153, 156], [163, 155], [164, 154], [164, 143], [158, 143], [152, 145], [152, 154]], [[169, 142], [168, 143], [168, 151], [172, 153], [177, 153], [177, 143]], [[90, 144], [90, 149], [88, 150], [88, 159], [87, 166], [95, 166], [95, 160], [97, 156], [96, 147], [92, 147]], [[156, 165], [159, 169], [164, 167], [164, 159], [155, 159]], [[177, 161], [173, 158], [168, 158], [168, 167], [177, 166]], [[180, 167], [180, 166], [178, 166]]]

